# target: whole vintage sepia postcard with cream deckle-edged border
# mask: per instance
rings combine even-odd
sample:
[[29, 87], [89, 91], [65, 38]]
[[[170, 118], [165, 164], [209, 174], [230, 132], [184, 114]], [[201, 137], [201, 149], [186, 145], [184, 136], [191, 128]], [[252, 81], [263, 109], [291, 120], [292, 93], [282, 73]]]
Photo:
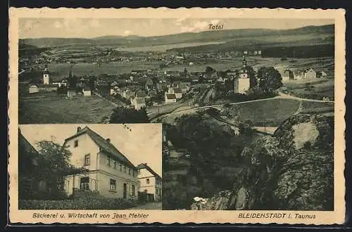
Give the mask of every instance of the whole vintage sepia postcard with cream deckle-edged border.
[[343, 224], [344, 14], [10, 8], [11, 223]]

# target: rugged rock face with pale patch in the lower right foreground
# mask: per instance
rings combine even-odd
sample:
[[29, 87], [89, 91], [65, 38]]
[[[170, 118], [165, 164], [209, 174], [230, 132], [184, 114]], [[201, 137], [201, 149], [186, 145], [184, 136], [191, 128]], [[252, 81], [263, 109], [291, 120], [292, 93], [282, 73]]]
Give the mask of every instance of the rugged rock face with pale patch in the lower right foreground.
[[334, 210], [334, 117], [294, 115], [241, 153], [234, 187], [193, 210]]

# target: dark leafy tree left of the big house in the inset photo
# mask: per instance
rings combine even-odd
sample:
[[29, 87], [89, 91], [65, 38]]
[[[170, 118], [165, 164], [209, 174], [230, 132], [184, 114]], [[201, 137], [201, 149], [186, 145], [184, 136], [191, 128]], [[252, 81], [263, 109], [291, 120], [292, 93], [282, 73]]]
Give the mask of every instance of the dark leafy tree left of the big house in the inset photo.
[[[62, 198], [65, 195], [63, 177], [87, 172], [86, 169], [71, 165], [69, 162], [70, 151], [58, 143], [39, 141], [37, 143], [39, 150], [36, 152], [32, 148], [30, 153], [28, 153], [30, 145], [25, 144], [21, 143], [19, 149], [20, 198]], [[33, 158], [35, 159], [34, 165]], [[42, 181], [42, 183], [45, 183], [45, 187], [39, 189], [38, 186], [32, 186], [29, 191], [30, 194], [28, 194], [25, 187], [28, 181], [31, 181], [34, 185], [38, 185]]]

